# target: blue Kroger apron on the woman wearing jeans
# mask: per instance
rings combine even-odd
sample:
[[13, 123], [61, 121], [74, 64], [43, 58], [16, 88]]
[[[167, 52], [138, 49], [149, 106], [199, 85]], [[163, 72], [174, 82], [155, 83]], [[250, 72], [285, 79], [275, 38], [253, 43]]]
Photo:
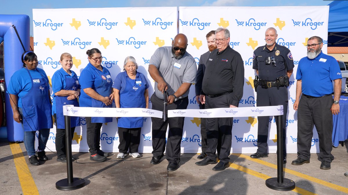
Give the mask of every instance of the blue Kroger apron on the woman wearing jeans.
[[53, 128], [52, 104], [49, 99], [48, 81], [38, 71], [42, 78], [31, 79], [31, 90], [22, 97], [22, 114], [24, 131], [37, 131]]

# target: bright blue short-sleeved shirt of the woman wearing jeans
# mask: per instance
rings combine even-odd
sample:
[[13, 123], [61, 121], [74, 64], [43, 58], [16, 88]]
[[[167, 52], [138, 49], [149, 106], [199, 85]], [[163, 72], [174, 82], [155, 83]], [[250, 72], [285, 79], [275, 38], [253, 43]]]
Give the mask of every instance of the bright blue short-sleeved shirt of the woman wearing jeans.
[[[30, 75], [33, 79], [45, 78], [48, 83], [48, 78], [44, 70], [36, 68], [37, 70], [29, 70]], [[49, 90], [49, 85], [47, 86]], [[9, 94], [18, 96], [18, 107], [22, 107], [22, 97], [24, 97], [32, 88], [32, 80], [28, 74], [26, 68], [17, 70], [10, 79], [10, 83], [7, 87]]]

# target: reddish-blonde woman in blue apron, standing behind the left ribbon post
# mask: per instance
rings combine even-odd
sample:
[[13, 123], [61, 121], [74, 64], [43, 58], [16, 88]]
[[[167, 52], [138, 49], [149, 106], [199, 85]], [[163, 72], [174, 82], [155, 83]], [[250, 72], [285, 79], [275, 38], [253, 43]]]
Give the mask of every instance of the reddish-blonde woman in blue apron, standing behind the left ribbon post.
[[[57, 161], [66, 163], [65, 147], [65, 121], [63, 105], [79, 106], [77, 98], [80, 95], [79, 80], [72, 68], [72, 56], [63, 53], [60, 61], [62, 68], [57, 70], [52, 77], [53, 105], [52, 114], [56, 121], [56, 151]], [[70, 117], [71, 139], [74, 137], [75, 127], [80, 126], [80, 117]], [[72, 160], [76, 160], [73, 156]]]

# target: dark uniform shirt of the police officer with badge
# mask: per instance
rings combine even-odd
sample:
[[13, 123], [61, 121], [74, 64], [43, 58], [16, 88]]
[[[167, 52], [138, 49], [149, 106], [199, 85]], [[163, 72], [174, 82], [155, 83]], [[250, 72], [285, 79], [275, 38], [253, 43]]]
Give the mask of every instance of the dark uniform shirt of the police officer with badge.
[[[272, 56], [275, 59], [275, 66], [272, 65], [271, 60], [269, 64], [266, 64], [266, 59]], [[264, 45], [256, 48], [253, 53], [253, 69], [259, 70], [259, 79], [275, 81], [277, 78], [285, 76], [285, 63], [286, 70], [294, 68], [290, 50], [277, 43], [271, 51]]]

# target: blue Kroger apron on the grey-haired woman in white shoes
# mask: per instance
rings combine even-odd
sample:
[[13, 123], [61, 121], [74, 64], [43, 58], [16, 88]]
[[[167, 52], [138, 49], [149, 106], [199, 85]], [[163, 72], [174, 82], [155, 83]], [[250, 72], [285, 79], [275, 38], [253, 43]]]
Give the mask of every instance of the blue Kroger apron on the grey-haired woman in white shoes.
[[[126, 77], [126, 86], [120, 91], [120, 107], [146, 108], [144, 93], [145, 83], [142, 82], [140, 75], [135, 79]], [[120, 117], [117, 126], [122, 128], [143, 127], [143, 119], [144, 117]]]

